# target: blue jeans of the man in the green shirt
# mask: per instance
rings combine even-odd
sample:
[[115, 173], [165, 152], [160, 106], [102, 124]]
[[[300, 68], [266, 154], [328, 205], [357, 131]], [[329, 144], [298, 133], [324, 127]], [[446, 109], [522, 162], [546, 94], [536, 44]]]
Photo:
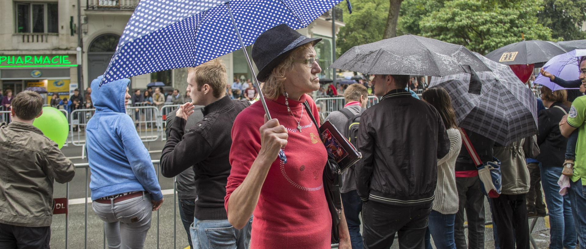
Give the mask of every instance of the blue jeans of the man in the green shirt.
[[570, 181], [570, 204], [574, 216], [576, 235], [580, 241], [580, 248], [586, 248], [586, 187], [582, 186], [582, 180]]

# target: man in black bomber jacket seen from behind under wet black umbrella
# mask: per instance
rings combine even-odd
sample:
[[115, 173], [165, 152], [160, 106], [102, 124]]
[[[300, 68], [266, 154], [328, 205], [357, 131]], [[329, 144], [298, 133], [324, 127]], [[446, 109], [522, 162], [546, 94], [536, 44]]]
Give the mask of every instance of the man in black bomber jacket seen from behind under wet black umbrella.
[[377, 105], [360, 117], [355, 165], [363, 200], [364, 248], [423, 248], [437, 182], [437, 160], [449, 139], [440, 113], [405, 90], [409, 75], [374, 75]]

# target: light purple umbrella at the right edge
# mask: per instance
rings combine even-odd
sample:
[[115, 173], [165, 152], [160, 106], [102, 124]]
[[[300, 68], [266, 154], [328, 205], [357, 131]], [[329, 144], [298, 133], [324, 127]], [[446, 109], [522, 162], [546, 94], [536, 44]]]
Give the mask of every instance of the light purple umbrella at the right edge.
[[[577, 79], [580, 75], [578, 73], [578, 57], [586, 56], [586, 49], [576, 49], [565, 54], [560, 54], [551, 58], [543, 65], [543, 69], [550, 72], [556, 77], [560, 77], [567, 81]], [[561, 89], [578, 89], [578, 88], [564, 88], [560, 85], [551, 82], [549, 78], [539, 74], [533, 84], [544, 85], [551, 91]]]

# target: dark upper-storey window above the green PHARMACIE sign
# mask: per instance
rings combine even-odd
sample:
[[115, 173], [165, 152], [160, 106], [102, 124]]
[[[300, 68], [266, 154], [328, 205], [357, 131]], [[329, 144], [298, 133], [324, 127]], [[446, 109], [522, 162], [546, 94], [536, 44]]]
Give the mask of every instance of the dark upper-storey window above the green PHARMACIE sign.
[[15, 4], [16, 33], [59, 33], [56, 2]]

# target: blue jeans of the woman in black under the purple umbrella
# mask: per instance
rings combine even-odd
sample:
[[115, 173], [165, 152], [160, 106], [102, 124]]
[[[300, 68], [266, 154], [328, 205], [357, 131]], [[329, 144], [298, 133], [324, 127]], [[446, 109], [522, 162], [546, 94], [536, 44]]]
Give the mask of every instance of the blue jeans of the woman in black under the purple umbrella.
[[546, 204], [550, 213], [550, 249], [563, 249], [576, 247], [576, 230], [570, 196], [560, 195], [560, 186], [557, 180], [560, 178], [560, 165], [539, 164], [541, 171], [541, 186], [546, 196]]

